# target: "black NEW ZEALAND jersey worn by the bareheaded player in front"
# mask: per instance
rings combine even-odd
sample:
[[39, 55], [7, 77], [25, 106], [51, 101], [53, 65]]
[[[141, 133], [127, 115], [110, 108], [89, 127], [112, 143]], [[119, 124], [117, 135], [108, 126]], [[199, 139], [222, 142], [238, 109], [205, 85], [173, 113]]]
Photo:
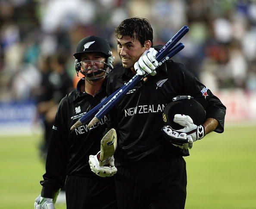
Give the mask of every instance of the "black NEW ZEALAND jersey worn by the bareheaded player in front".
[[[106, 87], [110, 95], [127, 83], [134, 74], [122, 66], [109, 74]], [[144, 158], [187, 156], [181, 149], [167, 142], [162, 133], [162, 112], [166, 104], [178, 95], [190, 95], [202, 104], [206, 118], [219, 121], [215, 132], [224, 131], [225, 106], [181, 63], [166, 62], [155, 76], [140, 81], [109, 112], [108, 128], [116, 128], [118, 147], [115, 165], [125, 165]]]

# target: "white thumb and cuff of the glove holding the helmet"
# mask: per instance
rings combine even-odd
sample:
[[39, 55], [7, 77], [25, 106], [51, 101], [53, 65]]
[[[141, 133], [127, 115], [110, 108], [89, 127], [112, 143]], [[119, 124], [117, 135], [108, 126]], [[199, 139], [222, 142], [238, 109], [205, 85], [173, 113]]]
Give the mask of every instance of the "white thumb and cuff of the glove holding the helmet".
[[202, 139], [204, 137], [204, 128], [202, 125], [195, 125], [193, 119], [189, 115], [176, 114], [174, 115], [173, 121], [178, 123], [184, 128], [176, 130], [178, 133], [184, 132], [187, 135], [190, 135], [193, 141]]

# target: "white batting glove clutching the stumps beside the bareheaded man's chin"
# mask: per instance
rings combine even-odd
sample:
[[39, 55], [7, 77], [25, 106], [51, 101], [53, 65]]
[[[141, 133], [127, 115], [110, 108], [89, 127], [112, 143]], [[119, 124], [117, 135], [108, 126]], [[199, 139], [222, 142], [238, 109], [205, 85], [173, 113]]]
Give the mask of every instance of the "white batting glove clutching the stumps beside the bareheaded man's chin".
[[141, 56], [140, 59], [135, 62], [134, 69], [138, 75], [156, 75], [156, 68], [158, 66], [158, 61], [156, 60], [156, 51], [154, 48], [146, 50]]

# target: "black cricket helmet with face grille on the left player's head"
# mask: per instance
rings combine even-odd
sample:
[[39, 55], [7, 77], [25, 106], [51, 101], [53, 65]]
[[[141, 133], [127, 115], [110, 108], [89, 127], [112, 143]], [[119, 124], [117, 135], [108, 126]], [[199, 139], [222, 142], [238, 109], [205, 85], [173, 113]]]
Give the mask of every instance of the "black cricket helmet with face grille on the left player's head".
[[[81, 56], [84, 53], [90, 53], [90, 52], [103, 54], [103, 56], [105, 56], [106, 58], [105, 62], [101, 62], [97, 60], [81, 61]], [[83, 77], [80, 77], [78, 75], [78, 77], [82, 79], [92, 80], [92, 79], [102, 78], [106, 75], [106, 73], [109, 73], [109, 71], [113, 69], [114, 57], [112, 56], [111, 48], [109, 46], [109, 43], [101, 37], [89, 36], [81, 39], [81, 41], [79, 41], [77, 45], [76, 53], [74, 53], [73, 56], [75, 57], [75, 70], [77, 72], [77, 75], [79, 73], [84, 75]], [[87, 73], [87, 69], [83, 68], [84, 66], [83, 63], [88, 63], [92, 61], [94, 61], [93, 62], [94, 64], [95, 63], [99, 64], [101, 62], [102, 64], [104, 64], [104, 67], [93, 69], [93, 70], [91, 69], [90, 73]], [[103, 72], [106, 72], [106, 73], [104, 73], [103, 75]], [[102, 75], [102, 76], [99, 76], [99, 75]]]

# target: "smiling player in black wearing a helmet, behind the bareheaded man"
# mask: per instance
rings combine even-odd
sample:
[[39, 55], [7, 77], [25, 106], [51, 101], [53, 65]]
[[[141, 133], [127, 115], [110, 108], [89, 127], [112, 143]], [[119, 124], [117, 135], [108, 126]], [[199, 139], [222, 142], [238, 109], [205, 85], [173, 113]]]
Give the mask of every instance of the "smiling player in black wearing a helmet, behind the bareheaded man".
[[99, 150], [104, 117], [89, 130], [81, 125], [70, 127], [86, 112], [106, 99], [105, 77], [113, 68], [111, 49], [101, 37], [83, 38], [77, 46], [75, 69], [81, 80], [59, 103], [53, 134], [47, 153], [46, 173], [35, 209], [54, 209], [54, 200], [65, 184], [67, 209], [116, 209], [114, 178], [101, 178], [91, 172], [89, 154]]

